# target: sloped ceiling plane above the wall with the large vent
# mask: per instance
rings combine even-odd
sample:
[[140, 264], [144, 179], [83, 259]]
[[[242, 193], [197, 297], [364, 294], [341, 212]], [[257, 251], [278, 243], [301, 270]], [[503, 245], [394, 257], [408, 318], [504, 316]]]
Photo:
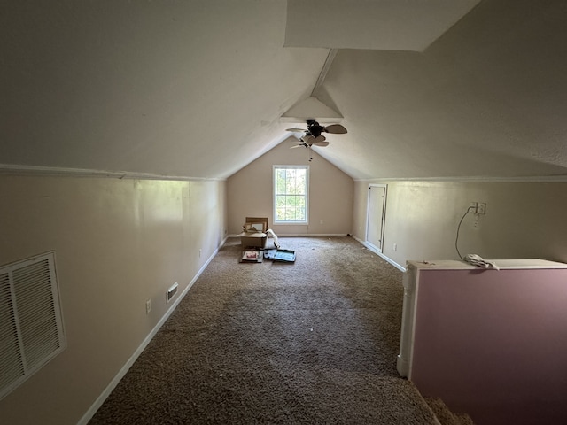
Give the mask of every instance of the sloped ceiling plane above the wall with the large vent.
[[283, 1], [10, 1], [0, 164], [235, 173], [287, 137], [279, 118], [328, 54], [284, 49], [285, 16]]

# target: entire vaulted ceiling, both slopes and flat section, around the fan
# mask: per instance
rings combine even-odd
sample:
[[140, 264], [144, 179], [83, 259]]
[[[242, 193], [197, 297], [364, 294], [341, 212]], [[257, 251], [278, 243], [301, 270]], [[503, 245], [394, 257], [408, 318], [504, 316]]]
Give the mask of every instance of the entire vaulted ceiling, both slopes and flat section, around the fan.
[[0, 171], [223, 179], [336, 118], [355, 179], [565, 176], [566, 41], [563, 0], [11, 0]]

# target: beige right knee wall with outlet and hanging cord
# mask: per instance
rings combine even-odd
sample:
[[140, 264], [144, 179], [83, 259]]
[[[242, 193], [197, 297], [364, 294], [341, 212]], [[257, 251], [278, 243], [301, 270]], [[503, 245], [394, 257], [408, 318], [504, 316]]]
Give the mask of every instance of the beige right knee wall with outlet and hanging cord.
[[[355, 182], [353, 232], [362, 241], [368, 185]], [[388, 182], [384, 255], [402, 267], [457, 259], [456, 229], [470, 202], [485, 202], [486, 214], [463, 220], [462, 255], [567, 262], [567, 182]]]

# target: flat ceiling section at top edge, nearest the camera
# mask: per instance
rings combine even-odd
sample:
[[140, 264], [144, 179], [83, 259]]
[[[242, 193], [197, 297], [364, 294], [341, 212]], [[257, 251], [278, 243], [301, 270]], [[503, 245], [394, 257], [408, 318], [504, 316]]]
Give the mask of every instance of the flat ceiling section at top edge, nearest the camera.
[[288, 0], [285, 45], [423, 51], [480, 0]]

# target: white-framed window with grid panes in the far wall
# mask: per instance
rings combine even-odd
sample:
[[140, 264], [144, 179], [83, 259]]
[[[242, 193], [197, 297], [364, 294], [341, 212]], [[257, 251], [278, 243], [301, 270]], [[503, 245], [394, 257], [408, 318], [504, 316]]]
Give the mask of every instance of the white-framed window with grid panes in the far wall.
[[308, 166], [274, 166], [274, 223], [307, 224]]

